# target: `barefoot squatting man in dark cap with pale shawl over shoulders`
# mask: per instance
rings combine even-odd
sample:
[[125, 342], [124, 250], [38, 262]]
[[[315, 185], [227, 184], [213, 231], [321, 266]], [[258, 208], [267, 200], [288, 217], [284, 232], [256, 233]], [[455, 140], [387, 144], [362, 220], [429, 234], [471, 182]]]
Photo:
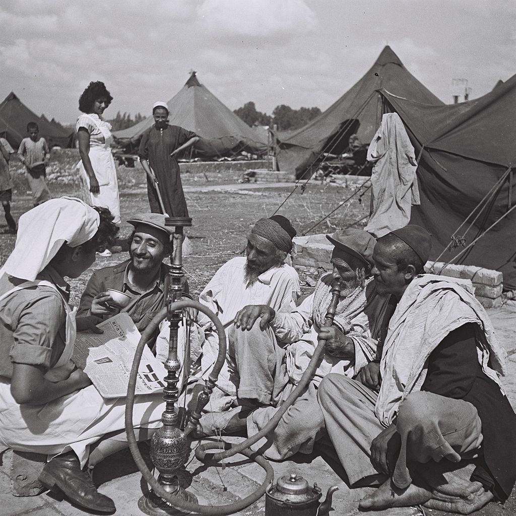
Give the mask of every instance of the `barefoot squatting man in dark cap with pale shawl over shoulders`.
[[516, 478], [505, 352], [469, 280], [424, 273], [430, 249], [417, 225], [379, 238], [373, 274], [390, 295], [381, 360], [360, 381], [330, 374], [317, 392], [351, 487], [380, 486], [363, 510], [468, 514], [505, 501]]

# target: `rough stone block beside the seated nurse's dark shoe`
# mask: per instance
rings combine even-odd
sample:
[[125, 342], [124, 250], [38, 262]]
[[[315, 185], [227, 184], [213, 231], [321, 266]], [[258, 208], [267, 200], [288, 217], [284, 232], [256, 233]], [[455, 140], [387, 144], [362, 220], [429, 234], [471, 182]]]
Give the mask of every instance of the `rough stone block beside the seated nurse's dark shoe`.
[[46, 455], [7, 450], [3, 455], [10, 463], [11, 493], [13, 496], [38, 496], [46, 491], [38, 480], [46, 463]]

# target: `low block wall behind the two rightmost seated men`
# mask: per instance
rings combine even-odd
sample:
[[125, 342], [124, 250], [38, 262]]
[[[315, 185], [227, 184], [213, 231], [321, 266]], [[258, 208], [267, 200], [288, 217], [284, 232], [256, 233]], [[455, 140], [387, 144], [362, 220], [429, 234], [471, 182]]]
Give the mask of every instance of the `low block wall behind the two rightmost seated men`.
[[[297, 255], [292, 262], [294, 268], [305, 277], [320, 277], [322, 273], [332, 270], [330, 264], [333, 246], [326, 235], [310, 235], [294, 238]], [[475, 287], [475, 297], [485, 308], [502, 305], [503, 275], [497, 270], [490, 270], [473, 265], [446, 265], [442, 262], [427, 262], [426, 272], [470, 280]]]

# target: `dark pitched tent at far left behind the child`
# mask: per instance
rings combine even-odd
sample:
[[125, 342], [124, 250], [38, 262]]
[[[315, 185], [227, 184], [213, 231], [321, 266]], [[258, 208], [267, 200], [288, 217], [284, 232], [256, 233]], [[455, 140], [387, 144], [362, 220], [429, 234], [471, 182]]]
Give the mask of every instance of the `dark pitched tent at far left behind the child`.
[[27, 123], [37, 122], [39, 134], [45, 138], [49, 147], [69, 147], [73, 133], [57, 122], [49, 122], [38, 117], [11, 91], [0, 104], [0, 136], [4, 137], [17, 150], [20, 142], [27, 136]]

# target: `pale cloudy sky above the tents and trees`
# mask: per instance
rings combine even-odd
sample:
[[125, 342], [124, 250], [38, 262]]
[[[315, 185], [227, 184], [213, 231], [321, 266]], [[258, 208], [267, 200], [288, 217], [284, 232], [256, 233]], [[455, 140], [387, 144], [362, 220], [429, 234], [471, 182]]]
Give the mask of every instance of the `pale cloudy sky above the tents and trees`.
[[2, 0], [0, 98], [73, 122], [90, 80], [149, 114], [198, 78], [231, 109], [329, 107], [389, 44], [443, 101], [516, 73], [514, 0]]

